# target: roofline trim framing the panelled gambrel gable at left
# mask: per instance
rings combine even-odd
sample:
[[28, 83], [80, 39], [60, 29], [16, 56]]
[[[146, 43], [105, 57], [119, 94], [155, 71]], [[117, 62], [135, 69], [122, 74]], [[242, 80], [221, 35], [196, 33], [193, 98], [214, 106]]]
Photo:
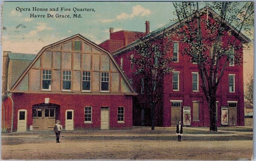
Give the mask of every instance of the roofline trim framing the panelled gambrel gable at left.
[[109, 54], [111, 60], [113, 61], [113, 63], [114, 63], [115, 66], [117, 67], [119, 73], [120, 73], [120, 74], [122, 75], [122, 77], [125, 79], [125, 81], [126, 81], [126, 83], [128, 84], [130, 90], [132, 91], [132, 93], [136, 93], [136, 92], [134, 91], [134, 89], [132, 88], [130, 82], [128, 81], [126, 75], [124, 75], [123, 71], [122, 71], [122, 70], [119, 68], [119, 66], [117, 65], [117, 63], [116, 63], [116, 61], [115, 61], [113, 55], [112, 55], [110, 52], [108, 52], [107, 50], [103, 49], [103, 48], [100, 47], [99, 45], [95, 44], [94, 42], [90, 41], [89, 39], [85, 38], [84, 36], [82, 36], [82, 35], [80, 35], [80, 34], [76, 34], [76, 35], [70, 36], [70, 37], [65, 38], [65, 39], [62, 39], [62, 40], [60, 40], [60, 41], [58, 41], [58, 42], [56, 42], [56, 43], [53, 43], [53, 44], [50, 44], [50, 45], [47, 45], [47, 46], [43, 47], [43, 48], [37, 53], [37, 56], [34, 58], [34, 60], [32, 60], [32, 62], [27, 66], [27, 68], [26, 68], [26, 70], [23, 72], [23, 74], [20, 75], [20, 77], [18, 78], [18, 80], [17, 80], [17, 81], [14, 83], [14, 85], [10, 88], [10, 91], [13, 90], [13, 89], [18, 85], [18, 83], [21, 81], [21, 79], [28, 73], [29, 69], [34, 65], [34, 63], [38, 60], [38, 58], [42, 55], [42, 53], [43, 53], [47, 48], [50, 48], [50, 47], [52, 47], [52, 46], [54, 46], [54, 45], [58, 45], [58, 44], [60, 44], [60, 43], [62, 43], [62, 42], [66, 42], [66, 41], [68, 41], [69, 39], [75, 38], [75, 37], [77, 37], [77, 36], [80, 37], [80, 38], [82, 38], [82, 39], [84, 39], [84, 40], [87, 41], [88, 43], [94, 45], [94, 46], [97, 47], [99, 50], [101, 50], [101, 51], [103, 51], [103, 52]]

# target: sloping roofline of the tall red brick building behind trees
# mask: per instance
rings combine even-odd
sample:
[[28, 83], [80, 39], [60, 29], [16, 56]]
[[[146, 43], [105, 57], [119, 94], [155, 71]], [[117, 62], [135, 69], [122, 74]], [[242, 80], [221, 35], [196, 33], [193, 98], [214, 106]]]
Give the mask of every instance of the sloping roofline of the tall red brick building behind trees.
[[[210, 9], [210, 7], [206, 6], [206, 7], [204, 7], [203, 9], [201, 9], [200, 11], [195, 12], [194, 14], [191, 14], [191, 15], [190, 15], [189, 17], [187, 17], [187, 18], [184, 18], [183, 20], [181, 20], [181, 22], [178, 21], [178, 22], [172, 24], [171, 26], [167, 27], [166, 29], [163, 29], [163, 31], [158, 31], [158, 32], [154, 33], [154, 34], [152, 35], [152, 37], [159, 36], [159, 35], [161, 35], [162, 33], [164, 33], [164, 32], [166, 32], [166, 31], [169, 31], [169, 30], [175, 28], [175, 27], [176, 27], [177, 25], [179, 25], [180, 23], [183, 23], [183, 22], [186, 21], [187, 19], [193, 17], [195, 14], [200, 13], [200, 12], [203, 12], [204, 10], [210, 11], [215, 17], [217, 17], [217, 18], [219, 18], [219, 19], [221, 18], [221, 17], [219, 17], [219, 15], [218, 15], [215, 11], [213, 11], [212, 9]], [[230, 29], [232, 29], [233, 31], [235, 31], [235, 32], [238, 34], [238, 31], [237, 31], [236, 29], [234, 29], [234, 27], [233, 27], [232, 25], [230, 25], [228, 22], [225, 22], [225, 23], [228, 25], [228, 27], [229, 27]], [[154, 32], [154, 31], [152, 31], [152, 32]], [[146, 35], [145, 35], [145, 36], [146, 36]], [[251, 40], [250, 40], [248, 37], [246, 37], [243, 33], [240, 32], [240, 33], [239, 33], [239, 36], [241, 36], [241, 38], [243, 38], [246, 43], [251, 42]], [[149, 38], [146, 38], [146, 40], [148, 40], [148, 39], [149, 39]], [[128, 45], [128, 46], [125, 46], [125, 47], [123, 47], [123, 48], [117, 50], [117, 51], [114, 52], [112, 55], [113, 55], [113, 56], [114, 56], [114, 55], [118, 55], [119, 53], [122, 53], [122, 52], [124, 52], [124, 51], [126, 51], [126, 50], [128, 50], [128, 49], [130, 49], [130, 48], [132, 48], [132, 47], [134, 47], [134, 46], [136, 46], [136, 45], [138, 45], [139, 43], [140, 43], [140, 42], [138, 42], [138, 41], [134, 41], [132, 44], [130, 44], [130, 45]]]

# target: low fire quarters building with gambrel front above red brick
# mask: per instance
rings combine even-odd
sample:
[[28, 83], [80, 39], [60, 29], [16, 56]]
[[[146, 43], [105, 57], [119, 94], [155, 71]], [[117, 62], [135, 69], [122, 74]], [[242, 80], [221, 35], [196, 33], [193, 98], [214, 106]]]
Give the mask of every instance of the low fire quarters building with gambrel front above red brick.
[[132, 126], [136, 95], [113, 56], [80, 34], [37, 55], [4, 52], [2, 130]]

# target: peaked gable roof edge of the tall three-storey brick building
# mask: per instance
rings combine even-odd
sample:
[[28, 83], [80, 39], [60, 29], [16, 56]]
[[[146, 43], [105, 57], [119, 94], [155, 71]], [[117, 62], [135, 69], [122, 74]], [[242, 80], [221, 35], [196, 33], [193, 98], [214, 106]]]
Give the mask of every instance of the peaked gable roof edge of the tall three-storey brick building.
[[[213, 18], [215, 19], [221, 19], [221, 17], [215, 12], [213, 11], [212, 9], [210, 9], [210, 7], [204, 7], [203, 9], [201, 9], [199, 11], [199, 13], [202, 13], [202, 12], [208, 12], [209, 14], [212, 14], [213, 15]], [[192, 18], [195, 14], [197, 13], [194, 13], [194, 14], [191, 14], [190, 16], [188, 16], [187, 18], [184, 18], [183, 20], [181, 20], [181, 23], [189, 20], [190, 18]], [[174, 28], [176, 28], [178, 25], [180, 25], [180, 22], [169, 22], [167, 23], [166, 25], [152, 31], [151, 33], [147, 34], [144, 38], [146, 39], [147, 37], [156, 37], [156, 36], [159, 36], [161, 34], [163, 34], [164, 32], [167, 32], [167, 31], [170, 31]], [[229, 24], [228, 22], [226, 22], [226, 25], [232, 30], [234, 31], [236, 34], [238, 34], [238, 37], [240, 38], [241, 42], [242, 43], [249, 43], [251, 42], [251, 40], [246, 37], [243, 33], [239, 32], [235, 27], [233, 27], [231, 24]], [[137, 44], [139, 43], [139, 41], [134, 41], [133, 43], [131, 43], [130, 45], [118, 50], [118, 51], [115, 51], [113, 53], [113, 55], [118, 55], [118, 54], [122, 54], [124, 51], [127, 51], [127, 50], [131, 50], [131, 48], [135, 47]]]

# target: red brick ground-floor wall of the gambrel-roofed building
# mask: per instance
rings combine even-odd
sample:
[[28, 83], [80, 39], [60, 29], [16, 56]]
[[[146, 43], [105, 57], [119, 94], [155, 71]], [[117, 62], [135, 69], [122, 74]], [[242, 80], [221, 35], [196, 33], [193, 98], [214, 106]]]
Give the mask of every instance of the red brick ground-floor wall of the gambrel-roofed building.
[[[27, 110], [27, 127], [33, 123], [32, 106], [44, 103], [44, 98], [50, 98], [49, 103], [60, 106], [60, 122], [65, 127], [66, 110], [74, 110], [74, 128], [100, 128], [100, 107], [109, 106], [110, 128], [132, 127], [132, 97], [113, 95], [66, 95], [66, 94], [14, 94], [14, 130], [17, 129], [17, 112]], [[84, 107], [92, 107], [92, 124], [84, 123]], [[118, 107], [125, 107], [124, 122], [117, 123]]]

